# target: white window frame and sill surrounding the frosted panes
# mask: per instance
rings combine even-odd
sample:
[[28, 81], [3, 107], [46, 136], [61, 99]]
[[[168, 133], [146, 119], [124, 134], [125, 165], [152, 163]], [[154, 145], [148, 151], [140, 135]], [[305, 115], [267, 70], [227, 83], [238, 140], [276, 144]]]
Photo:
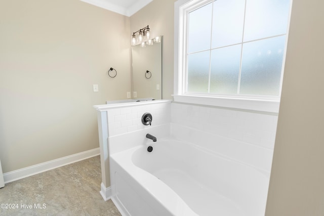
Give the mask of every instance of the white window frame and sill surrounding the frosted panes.
[[[174, 101], [181, 103], [209, 105], [217, 107], [227, 107], [235, 109], [247, 109], [263, 112], [279, 112], [279, 103], [284, 76], [286, 50], [288, 44], [288, 29], [290, 16], [287, 26], [286, 47], [282, 60], [279, 96], [245, 96], [245, 95], [213, 95], [213, 94], [187, 94], [185, 93], [185, 71], [186, 71], [186, 39], [188, 13], [197, 7], [207, 5], [214, 0], [178, 0], [175, 2], [174, 11]], [[292, 1], [291, 1], [292, 3]], [[290, 6], [291, 13], [292, 4]]]

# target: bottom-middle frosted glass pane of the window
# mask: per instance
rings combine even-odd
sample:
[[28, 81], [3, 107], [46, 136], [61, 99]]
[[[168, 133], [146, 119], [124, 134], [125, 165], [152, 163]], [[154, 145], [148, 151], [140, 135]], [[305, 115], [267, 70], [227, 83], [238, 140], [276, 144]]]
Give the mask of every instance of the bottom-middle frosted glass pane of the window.
[[241, 45], [212, 51], [210, 93], [236, 94]]

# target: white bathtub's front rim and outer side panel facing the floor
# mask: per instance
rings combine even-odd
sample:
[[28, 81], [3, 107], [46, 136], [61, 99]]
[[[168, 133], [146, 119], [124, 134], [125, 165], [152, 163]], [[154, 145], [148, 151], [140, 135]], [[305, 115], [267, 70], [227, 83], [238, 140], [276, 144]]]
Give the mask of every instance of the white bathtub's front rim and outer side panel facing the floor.
[[138, 148], [110, 157], [112, 200], [121, 214], [197, 216], [168, 185], [133, 164], [132, 154]]

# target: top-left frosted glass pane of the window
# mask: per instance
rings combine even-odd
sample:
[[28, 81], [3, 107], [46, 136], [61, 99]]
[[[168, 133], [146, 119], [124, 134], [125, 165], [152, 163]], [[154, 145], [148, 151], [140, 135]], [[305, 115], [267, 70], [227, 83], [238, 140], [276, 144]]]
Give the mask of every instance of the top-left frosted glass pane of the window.
[[212, 3], [189, 13], [188, 53], [210, 49]]

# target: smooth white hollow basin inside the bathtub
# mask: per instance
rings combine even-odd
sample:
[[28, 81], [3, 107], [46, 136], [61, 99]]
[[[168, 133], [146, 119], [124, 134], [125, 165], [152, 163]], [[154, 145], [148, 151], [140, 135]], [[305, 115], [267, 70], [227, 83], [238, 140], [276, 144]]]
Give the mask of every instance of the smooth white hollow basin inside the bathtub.
[[255, 168], [175, 139], [151, 146], [152, 152], [137, 149], [132, 162], [166, 183], [198, 215], [264, 214], [268, 179]]

